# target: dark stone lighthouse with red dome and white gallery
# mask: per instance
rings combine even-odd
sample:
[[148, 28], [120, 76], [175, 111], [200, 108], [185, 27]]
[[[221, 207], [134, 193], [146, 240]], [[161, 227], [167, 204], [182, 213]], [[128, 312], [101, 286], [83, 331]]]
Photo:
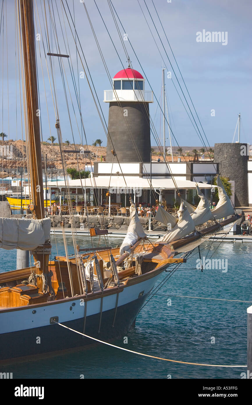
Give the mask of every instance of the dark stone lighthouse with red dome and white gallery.
[[[104, 91], [104, 102], [109, 102], [108, 132], [119, 162], [149, 162], [148, 103], [153, 94], [144, 90], [142, 75], [131, 68], [120, 70], [113, 78], [113, 90]], [[107, 162], [112, 162], [111, 149], [108, 142]]]

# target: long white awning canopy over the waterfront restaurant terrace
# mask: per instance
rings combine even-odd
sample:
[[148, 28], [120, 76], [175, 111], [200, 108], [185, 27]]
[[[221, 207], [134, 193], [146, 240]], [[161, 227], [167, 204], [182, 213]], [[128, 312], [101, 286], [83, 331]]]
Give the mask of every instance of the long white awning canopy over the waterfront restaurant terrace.
[[[126, 184], [125, 185], [125, 181]], [[125, 181], [122, 176], [112, 176], [111, 179], [109, 176], [98, 176], [88, 179], [78, 179], [78, 180], [69, 180], [70, 188], [108, 188], [110, 184], [110, 192], [113, 192], [112, 189], [125, 189], [127, 193], [127, 188], [141, 188], [145, 190], [150, 189], [150, 182], [145, 177], [135, 177], [135, 176], [127, 176], [125, 177]], [[174, 185], [172, 179], [152, 179], [152, 188], [156, 188], [159, 190], [176, 190], [176, 186]], [[45, 185], [45, 183], [44, 183]], [[194, 181], [189, 180], [176, 180], [176, 185], [179, 190], [188, 190], [188, 189], [195, 189], [196, 183]], [[204, 184], [198, 183], [199, 188], [202, 189], [210, 189], [211, 184]], [[49, 188], [65, 188], [65, 181], [48, 181], [47, 187]], [[116, 191], [115, 191], [116, 192]]]

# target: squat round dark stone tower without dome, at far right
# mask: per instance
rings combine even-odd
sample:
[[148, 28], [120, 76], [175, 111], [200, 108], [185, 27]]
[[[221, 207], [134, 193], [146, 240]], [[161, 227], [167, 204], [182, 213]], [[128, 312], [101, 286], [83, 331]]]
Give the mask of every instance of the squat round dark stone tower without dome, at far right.
[[248, 207], [248, 156], [241, 154], [246, 143], [216, 143], [214, 159], [219, 163], [219, 172], [235, 181], [235, 207]]

